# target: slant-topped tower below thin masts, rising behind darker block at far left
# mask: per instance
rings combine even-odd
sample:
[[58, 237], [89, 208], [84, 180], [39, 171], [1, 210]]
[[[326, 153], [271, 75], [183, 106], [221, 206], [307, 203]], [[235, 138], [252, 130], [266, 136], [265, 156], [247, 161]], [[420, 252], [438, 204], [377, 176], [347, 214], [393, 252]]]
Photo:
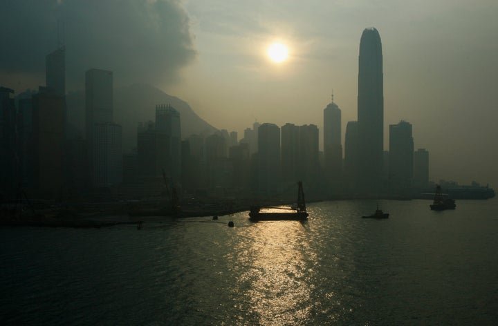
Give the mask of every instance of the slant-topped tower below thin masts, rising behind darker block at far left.
[[57, 48], [45, 57], [46, 86], [58, 95], [66, 95], [66, 50]]

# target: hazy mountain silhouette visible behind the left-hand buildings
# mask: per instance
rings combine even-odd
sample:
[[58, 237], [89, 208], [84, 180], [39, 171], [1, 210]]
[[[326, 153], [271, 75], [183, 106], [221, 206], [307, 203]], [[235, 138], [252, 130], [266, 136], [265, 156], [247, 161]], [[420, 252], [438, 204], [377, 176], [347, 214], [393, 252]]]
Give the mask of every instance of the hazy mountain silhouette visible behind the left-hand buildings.
[[[66, 95], [68, 137], [84, 136], [84, 90]], [[180, 113], [182, 139], [190, 135], [210, 135], [216, 128], [197, 115], [187, 102], [148, 84], [114, 88], [114, 122], [122, 126], [123, 153], [136, 148], [137, 126], [156, 119], [156, 105], [171, 104]]]

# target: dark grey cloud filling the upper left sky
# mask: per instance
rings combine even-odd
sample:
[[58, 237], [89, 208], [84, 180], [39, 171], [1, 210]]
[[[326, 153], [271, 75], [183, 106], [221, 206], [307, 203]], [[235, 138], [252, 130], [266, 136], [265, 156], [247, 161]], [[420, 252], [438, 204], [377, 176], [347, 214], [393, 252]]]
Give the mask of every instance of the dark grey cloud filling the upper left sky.
[[82, 84], [89, 68], [113, 70], [118, 82], [165, 84], [196, 56], [178, 0], [6, 0], [0, 7], [0, 75], [43, 76], [57, 21], [64, 22], [69, 84]]

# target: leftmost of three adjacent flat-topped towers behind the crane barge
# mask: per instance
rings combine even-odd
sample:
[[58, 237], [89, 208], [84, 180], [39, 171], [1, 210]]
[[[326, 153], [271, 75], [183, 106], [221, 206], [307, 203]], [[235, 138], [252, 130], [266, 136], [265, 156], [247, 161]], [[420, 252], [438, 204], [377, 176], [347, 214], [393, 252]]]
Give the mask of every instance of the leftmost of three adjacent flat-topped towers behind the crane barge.
[[277, 191], [280, 181], [280, 128], [276, 124], [259, 126], [257, 162], [260, 193]]

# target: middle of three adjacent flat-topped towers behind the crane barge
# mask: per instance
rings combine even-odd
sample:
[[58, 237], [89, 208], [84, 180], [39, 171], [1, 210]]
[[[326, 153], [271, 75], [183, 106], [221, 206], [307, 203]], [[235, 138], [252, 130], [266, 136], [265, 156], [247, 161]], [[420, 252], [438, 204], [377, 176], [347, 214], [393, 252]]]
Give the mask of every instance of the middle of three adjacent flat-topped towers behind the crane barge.
[[299, 126], [282, 126], [282, 179], [297, 182], [299, 171]]

